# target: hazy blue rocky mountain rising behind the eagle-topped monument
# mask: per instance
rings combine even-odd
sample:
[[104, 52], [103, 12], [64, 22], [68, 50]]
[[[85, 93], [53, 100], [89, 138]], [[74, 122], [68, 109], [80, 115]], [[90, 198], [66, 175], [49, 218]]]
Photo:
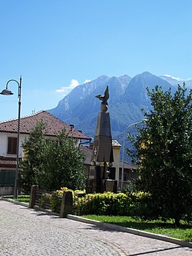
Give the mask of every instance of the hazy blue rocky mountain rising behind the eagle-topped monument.
[[94, 137], [98, 112], [101, 101], [95, 95], [104, 94], [108, 85], [109, 101], [108, 111], [111, 118], [111, 131], [113, 138], [122, 138], [122, 132], [134, 122], [141, 121], [145, 111], [151, 108], [151, 101], [147, 97], [150, 90], [159, 85], [163, 90], [176, 87], [165, 78], [152, 75], [145, 71], [131, 78], [128, 75], [121, 77], [108, 77], [102, 75], [99, 78], [75, 87], [65, 98], [58, 102], [56, 108], [48, 110], [52, 115], [60, 118], [68, 124], [73, 124], [88, 136]]

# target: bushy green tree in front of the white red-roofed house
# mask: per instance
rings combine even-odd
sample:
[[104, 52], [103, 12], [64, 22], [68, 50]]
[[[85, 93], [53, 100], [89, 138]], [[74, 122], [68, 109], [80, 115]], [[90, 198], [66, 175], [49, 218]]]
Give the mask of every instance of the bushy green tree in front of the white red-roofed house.
[[61, 187], [84, 188], [81, 148], [65, 131], [51, 139], [44, 134], [44, 128], [39, 123], [22, 144], [26, 155], [21, 164], [22, 188], [25, 191], [30, 191], [31, 185], [48, 191]]

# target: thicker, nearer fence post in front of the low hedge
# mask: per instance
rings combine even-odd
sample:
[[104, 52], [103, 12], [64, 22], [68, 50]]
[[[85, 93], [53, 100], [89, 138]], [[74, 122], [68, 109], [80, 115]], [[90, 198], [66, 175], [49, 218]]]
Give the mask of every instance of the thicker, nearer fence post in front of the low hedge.
[[61, 203], [61, 211], [60, 218], [67, 218], [67, 214], [73, 213], [73, 194], [71, 191], [64, 191], [62, 203]]

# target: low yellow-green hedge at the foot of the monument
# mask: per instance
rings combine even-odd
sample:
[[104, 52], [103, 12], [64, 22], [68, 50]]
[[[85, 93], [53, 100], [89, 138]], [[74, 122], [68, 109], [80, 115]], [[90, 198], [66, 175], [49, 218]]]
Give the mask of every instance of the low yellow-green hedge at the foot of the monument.
[[45, 204], [50, 204], [51, 211], [59, 213], [64, 191], [73, 193], [74, 214], [119, 215], [143, 219], [158, 217], [155, 215], [152, 205], [151, 208], [148, 207], [151, 200], [150, 194], [144, 192], [85, 194], [85, 191], [61, 188], [51, 194], [42, 194], [40, 198], [41, 207], [45, 208]]

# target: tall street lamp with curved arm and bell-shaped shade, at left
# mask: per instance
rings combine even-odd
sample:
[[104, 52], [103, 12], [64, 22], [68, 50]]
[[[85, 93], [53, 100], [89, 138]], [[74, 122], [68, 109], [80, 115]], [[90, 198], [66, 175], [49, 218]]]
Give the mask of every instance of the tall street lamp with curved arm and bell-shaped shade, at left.
[[21, 96], [22, 96], [22, 75], [19, 82], [15, 79], [10, 79], [6, 83], [6, 88], [2, 90], [1, 95], [13, 95], [12, 91], [8, 90], [8, 83], [15, 81], [18, 84], [18, 138], [17, 138], [17, 157], [16, 157], [16, 170], [15, 170], [15, 185], [13, 198], [18, 198], [18, 150], [19, 150], [19, 132], [20, 132], [20, 115], [21, 115]]

